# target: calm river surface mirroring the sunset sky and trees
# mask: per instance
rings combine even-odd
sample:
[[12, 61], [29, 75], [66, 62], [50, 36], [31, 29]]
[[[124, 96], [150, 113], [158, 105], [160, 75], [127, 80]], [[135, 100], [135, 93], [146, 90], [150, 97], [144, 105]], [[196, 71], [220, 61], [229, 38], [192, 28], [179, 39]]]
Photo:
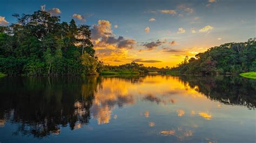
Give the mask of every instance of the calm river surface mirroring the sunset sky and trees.
[[3, 77], [0, 142], [255, 142], [256, 80]]

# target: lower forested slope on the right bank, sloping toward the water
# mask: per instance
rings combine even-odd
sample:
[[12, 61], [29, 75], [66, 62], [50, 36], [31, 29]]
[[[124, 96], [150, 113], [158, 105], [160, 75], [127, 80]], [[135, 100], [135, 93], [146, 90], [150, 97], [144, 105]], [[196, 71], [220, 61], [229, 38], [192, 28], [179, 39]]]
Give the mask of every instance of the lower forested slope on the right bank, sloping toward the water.
[[181, 74], [237, 74], [256, 71], [256, 41], [227, 43], [199, 53], [195, 58], [188, 56], [172, 71]]

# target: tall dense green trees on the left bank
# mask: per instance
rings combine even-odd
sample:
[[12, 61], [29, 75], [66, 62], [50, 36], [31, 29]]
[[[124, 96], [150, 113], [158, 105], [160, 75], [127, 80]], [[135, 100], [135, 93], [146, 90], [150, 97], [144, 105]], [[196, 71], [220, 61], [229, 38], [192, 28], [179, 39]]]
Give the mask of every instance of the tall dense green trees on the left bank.
[[87, 25], [60, 23], [45, 11], [13, 15], [17, 22], [0, 26], [0, 72], [8, 75], [97, 74], [103, 62], [95, 55]]

